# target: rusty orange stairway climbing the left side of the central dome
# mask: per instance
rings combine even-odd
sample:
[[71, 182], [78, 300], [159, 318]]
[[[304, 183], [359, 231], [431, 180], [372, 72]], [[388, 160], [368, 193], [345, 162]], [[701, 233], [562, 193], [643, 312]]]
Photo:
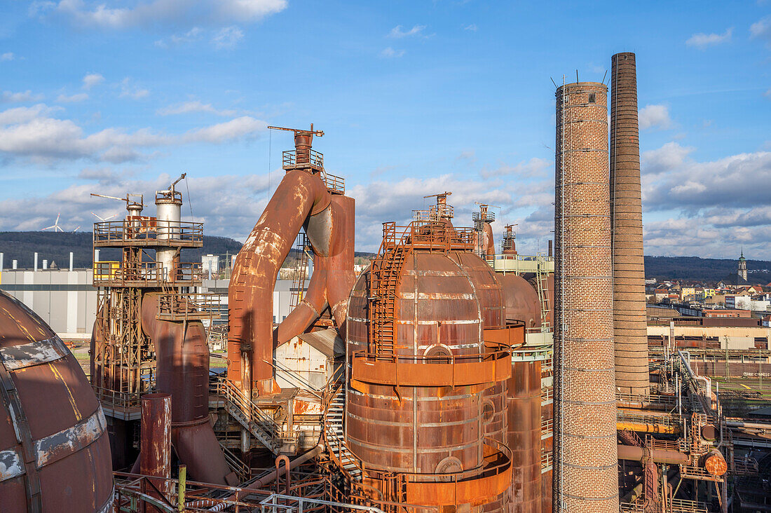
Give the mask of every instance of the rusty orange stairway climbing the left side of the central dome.
[[369, 273], [369, 350], [377, 356], [394, 356], [396, 289], [408, 252], [396, 238], [396, 224], [383, 223], [383, 241]]

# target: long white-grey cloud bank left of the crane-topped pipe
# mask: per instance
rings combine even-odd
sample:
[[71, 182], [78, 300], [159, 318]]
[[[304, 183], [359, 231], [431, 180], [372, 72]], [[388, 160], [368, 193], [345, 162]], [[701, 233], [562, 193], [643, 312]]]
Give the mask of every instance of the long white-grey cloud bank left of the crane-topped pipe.
[[226, 143], [255, 137], [267, 123], [241, 116], [180, 134], [150, 128], [126, 132], [107, 128], [86, 134], [72, 120], [53, 117], [55, 108], [42, 104], [0, 112], [0, 153], [35, 160], [103, 160], [125, 162], [147, 157], [142, 150], [190, 143]]

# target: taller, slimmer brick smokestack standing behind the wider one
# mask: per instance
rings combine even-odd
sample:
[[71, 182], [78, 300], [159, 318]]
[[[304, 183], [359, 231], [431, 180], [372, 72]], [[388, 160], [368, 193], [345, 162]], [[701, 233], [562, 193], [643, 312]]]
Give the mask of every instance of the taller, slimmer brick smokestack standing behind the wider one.
[[637, 69], [631, 52], [612, 59], [610, 153], [616, 386], [621, 393], [648, 395]]

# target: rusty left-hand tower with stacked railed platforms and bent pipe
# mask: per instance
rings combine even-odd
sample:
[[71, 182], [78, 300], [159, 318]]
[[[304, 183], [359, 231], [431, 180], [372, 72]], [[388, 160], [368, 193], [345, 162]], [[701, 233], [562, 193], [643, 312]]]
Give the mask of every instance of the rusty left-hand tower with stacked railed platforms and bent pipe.
[[184, 248], [203, 245], [203, 225], [181, 221], [182, 197], [174, 187], [183, 177], [156, 192], [156, 216], [143, 216], [143, 198], [127, 195], [125, 219], [94, 224], [94, 248], [120, 248], [122, 259], [94, 264], [99, 303], [91, 380], [108, 411], [115, 467], [134, 461], [140, 397], [157, 391], [173, 398], [173, 447], [191, 477], [233, 484], [208, 416], [209, 349], [202, 320], [212, 319], [218, 305], [189, 292], [200, 285], [200, 264], [181, 260]]

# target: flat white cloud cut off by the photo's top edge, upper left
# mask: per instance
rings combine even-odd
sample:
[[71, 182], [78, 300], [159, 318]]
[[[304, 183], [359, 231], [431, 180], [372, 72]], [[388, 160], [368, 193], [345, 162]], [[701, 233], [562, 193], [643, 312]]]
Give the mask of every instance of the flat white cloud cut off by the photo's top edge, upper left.
[[144, 0], [132, 2], [85, 2], [60, 0], [39, 3], [32, 15], [59, 16], [82, 27], [100, 29], [146, 28], [157, 25], [223, 25], [258, 22], [283, 11], [287, 0]]

